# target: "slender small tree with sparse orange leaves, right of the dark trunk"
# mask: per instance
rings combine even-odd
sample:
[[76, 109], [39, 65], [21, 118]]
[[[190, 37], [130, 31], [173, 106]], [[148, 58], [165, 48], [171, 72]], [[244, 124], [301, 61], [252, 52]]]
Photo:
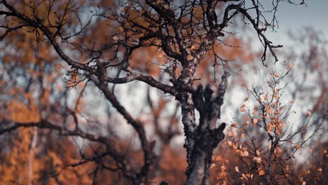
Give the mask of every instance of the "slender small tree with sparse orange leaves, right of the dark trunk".
[[[286, 80], [291, 73], [291, 64], [284, 64], [287, 70], [282, 74], [273, 71], [270, 78], [247, 88], [240, 106], [236, 123], [228, 128], [228, 138], [221, 145], [220, 154], [214, 157], [220, 174], [217, 180], [225, 184], [302, 184], [306, 183], [305, 170], [296, 170], [296, 153], [306, 146], [324, 123], [324, 115], [313, 121], [312, 111], [308, 110], [299, 121], [293, 120], [296, 114], [295, 101], [286, 101]], [[288, 79], [288, 78], [287, 78]], [[287, 93], [286, 93], [287, 91]], [[312, 147], [311, 147], [312, 148]], [[313, 150], [309, 149], [312, 153]], [[320, 152], [315, 152], [316, 154]], [[308, 180], [308, 179], [307, 179]], [[304, 181], [304, 182], [303, 182]]]

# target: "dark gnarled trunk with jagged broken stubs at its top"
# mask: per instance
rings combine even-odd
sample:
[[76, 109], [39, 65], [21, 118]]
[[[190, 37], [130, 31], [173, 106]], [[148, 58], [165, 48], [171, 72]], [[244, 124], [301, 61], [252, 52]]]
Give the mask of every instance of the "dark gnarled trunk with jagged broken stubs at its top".
[[[180, 100], [186, 136], [184, 147], [187, 151], [188, 163], [186, 184], [209, 184], [209, 168], [213, 150], [225, 136], [223, 131], [226, 123], [221, 123], [217, 128], [217, 119], [221, 114], [227, 78], [228, 73], [225, 72], [215, 95], [210, 85], [207, 85], [205, 89], [199, 85], [191, 96], [185, 95]], [[199, 125], [196, 125], [195, 109], [200, 113]]]

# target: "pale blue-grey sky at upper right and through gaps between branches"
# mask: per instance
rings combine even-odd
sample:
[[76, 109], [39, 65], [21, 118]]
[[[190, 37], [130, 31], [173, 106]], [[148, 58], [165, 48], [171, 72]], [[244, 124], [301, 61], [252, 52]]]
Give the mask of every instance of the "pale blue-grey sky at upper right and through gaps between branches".
[[[262, 0], [261, 1], [265, 6], [270, 5], [272, 0]], [[297, 33], [297, 30], [302, 27], [314, 27], [317, 30], [320, 30], [324, 35], [328, 36], [328, 0], [306, 0], [306, 6], [294, 6], [288, 4], [287, 2], [282, 2], [278, 7], [278, 12], [276, 14], [279, 21], [279, 29], [276, 29], [276, 32], [271, 32], [270, 30], [266, 31], [266, 36], [270, 41], [273, 41], [274, 45], [284, 45], [292, 44], [292, 41], [287, 36], [287, 32], [292, 31]], [[260, 46], [259, 40], [254, 39], [254, 43]], [[263, 46], [262, 46], [263, 48]], [[142, 89], [146, 89], [144, 83], [139, 83], [139, 90], [135, 91], [135, 95], [144, 94]], [[116, 90], [118, 94], [121, 94], [122, 97], [129, 96], [126, 88], [117, 85]], [[125, 94], [126, 93], [126, 94]], [[156, 97], [156, 95], [154, 96]], [[153, 97], [153, 98], [154, 98]], [[244, 95], [240, 94], [240, 100], [242, 100]], [[140, 97], [134, 102], [134, 99], [125, 99], [120, 100], [123, 104], [134, 106], [127, 106], [126, 109], [134, 116], [138, 116], [139, 112], [135, 111], [135, 106], [140, 102], [145, 102], [144, 97]], [[233, 112], [233, 111], [232, 111]], [[227, 123], [231, 121], [231, 114], [226, 116]], [[128, 127], [124, 129], [126, 134], [130, 134]], [[184, 142], [184, 136], [178, 138], [179, 142]]]

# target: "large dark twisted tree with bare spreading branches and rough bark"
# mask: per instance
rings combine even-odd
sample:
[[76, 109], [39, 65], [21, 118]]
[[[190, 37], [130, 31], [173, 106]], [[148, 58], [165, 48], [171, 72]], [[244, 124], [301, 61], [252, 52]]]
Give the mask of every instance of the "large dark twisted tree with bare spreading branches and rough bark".
[[[116, 84], [142, 81], [179, 102], [188, 164], [186, 184], [209, 184], [212, 153], [224, 139], [226, 123], [218, 120], [231, 70], [217, 48], [229, 46], [224, 38], [235, 32], [231, 30], [238, 29], [238, 23], [251, 25], [256, 32], [264, 46], [261, 61], [265, 67], [267, 51], [278, 62], [274, 49], [282, 47], [273, 45], [264, 34], [266, 29], [277, 26], [275, 12], [280, 1], [272, 1], [271, 20], [264, 16], [266, 10], [260, 1], [140, 0], [126, 1], [119, 9], [106, 1], [95, 4], [73, 0], [22, 1], [20, 4], [5, 0], [0, 2], [1, 40], [24, 32], [33, 35], [33, 48], [39, 53], [43, 53], [43, 44], [52, 46], [53, 50], [49, 53], [55, 53], [67, 64], [67, 82], [73, 87], [93, 83], [132, 126], [139, 138], [143, 158], [140, 167], [132, 166], [125, 153], [119, 151], [115, 137], [96, 135], [81, 128], [76, 109], [69, 109], [74, 123], [70, 128], [58, 120], [50, 120], [50, 116], [39, 116], [24, 124], [11, 119], [10, 125], [2, 129], [1, 133], [20, 127], [36, 127], [97, 142], [102, 145], [102, 150], [91, 157], [81, 155], [84, 160], [95, 161], [107, 170], [121, 172], [133, 184], [149, 183], [151, 169], [156, 161], [153, 152], [155, 142], [147, 138], [144, 122], [134, 118], [127, 111], [128, 107], [118, 101], [114, 93]], [[294, 4], [293, 1], [287, 2]], [[108, 32], [100, 34], [102, 29]], [[90, 34], [92, 32], [96, 34]], [[138, 57], [138, 53], [142, 52], [149, 55], [158, 53], [157, 62], [163, 65], [160, 78], [156, 79], [159, 68], [149, 67], [142, 61], [152, 62], [153, 59], [150, 60], [149, 56]], [[214, 69], [221, 71], [221, 81], [207, 84], [205, 88], [199, 84], [195, 88], [200, 64], [210, 64], [205, 60], [208, 55], [213, 56]], [[76, 104], [79, 100], [76, 100]], [[152, 107], [150, 98], [148, 102]], [[153, 107], [152, 111], [156, 113]], [[196, 112], [199, 119], [196, 119]], [[170, 130], [168, 133], [175, 135], [177, 132]], [[116, 168], [104, 165], [102, 160], [107, 156], [115, 161]]]

